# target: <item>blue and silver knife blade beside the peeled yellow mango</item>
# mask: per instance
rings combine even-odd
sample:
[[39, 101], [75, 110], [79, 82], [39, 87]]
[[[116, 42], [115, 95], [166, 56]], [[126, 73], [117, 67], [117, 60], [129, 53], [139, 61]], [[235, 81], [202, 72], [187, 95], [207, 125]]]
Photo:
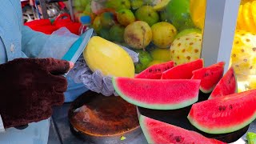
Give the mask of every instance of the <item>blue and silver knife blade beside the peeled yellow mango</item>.
[[[94, 29], [86, 30], [86, 32], [82, 34], [76, 42], [74, 42], [74, 44], [70, 47], [70, 50], [68, 50], [63, 56], [62, 60], [70, 61], [73, 63], [77, 62], [78, 58], [82, 54], [82, 51], [85, 50], [93, 32]], [[64, 74], [64, 77], [66, 77], [66, 74]]]

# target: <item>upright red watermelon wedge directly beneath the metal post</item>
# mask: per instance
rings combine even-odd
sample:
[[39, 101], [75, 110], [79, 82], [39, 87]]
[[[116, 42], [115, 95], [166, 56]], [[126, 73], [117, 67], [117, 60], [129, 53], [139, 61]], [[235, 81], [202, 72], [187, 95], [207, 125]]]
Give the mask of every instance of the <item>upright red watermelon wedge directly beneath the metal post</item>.
[[218, 62], [214, 65], [194, 70], [191, 79], [201, 79], [200, 90], [203, 93], [208, 94], [214, 90], [214, 87], [222, 78], [224, 66], [225, 62]]

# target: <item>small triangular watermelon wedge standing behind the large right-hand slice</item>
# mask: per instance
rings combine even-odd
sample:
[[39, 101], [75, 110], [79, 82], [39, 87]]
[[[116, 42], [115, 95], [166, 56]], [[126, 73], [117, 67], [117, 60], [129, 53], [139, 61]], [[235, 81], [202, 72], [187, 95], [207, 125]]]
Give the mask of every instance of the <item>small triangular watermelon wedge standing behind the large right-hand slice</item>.
[[213, 92], [210, 94], [210, 98], [217, 98], [223, 95], [234, 94], [237, 92], [237, 82], [234, 75], [233, 67], [227, 70], [226, 74], [215, 86]]

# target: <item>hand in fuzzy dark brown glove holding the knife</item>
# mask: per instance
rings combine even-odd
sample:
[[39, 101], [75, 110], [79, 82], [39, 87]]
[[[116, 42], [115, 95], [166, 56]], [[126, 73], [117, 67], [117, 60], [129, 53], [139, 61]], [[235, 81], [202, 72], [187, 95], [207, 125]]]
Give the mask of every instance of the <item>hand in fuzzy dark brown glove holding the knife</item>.
[[5, 128], [50, 118], [64, 102], [72, 64], [54, 58], [18, 58], [0, 65], [0, 114]]

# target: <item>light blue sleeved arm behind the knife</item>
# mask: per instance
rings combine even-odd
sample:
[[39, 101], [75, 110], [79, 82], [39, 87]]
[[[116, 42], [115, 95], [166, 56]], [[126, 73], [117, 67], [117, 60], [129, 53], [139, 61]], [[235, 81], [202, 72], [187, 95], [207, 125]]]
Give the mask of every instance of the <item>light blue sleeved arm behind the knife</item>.
[[22, 26], [22, 52], [28, 58], [61, 59], [78, 39], [78, 36], [70, 34], [69, 31], [65, 32], [65, 35], [58, 31], [49, 35], [31, 30], [28, 26]]

